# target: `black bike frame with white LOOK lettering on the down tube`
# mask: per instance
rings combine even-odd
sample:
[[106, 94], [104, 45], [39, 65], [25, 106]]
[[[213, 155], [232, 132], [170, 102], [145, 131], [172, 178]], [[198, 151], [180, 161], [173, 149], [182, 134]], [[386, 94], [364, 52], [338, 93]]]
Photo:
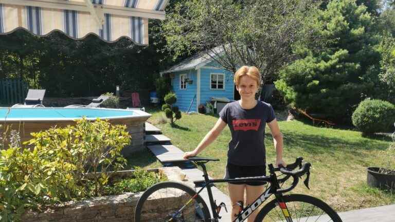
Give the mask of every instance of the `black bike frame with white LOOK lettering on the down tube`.
[[[217, 209], [216, 209], [216, 204], [214, 204], [214, 199], [212, 196], [212, 191], [211, 191], [211, 186], [210, 184], [212, 183], [219, 183], [219, 182], [247, 182], [247, 181], [266, 181], [266, 182], [270, 182], [271, 186], [269, 188], [267, 188], [262, 195], [260, 195], [254, 202], [253, 204], [250, 204], [247, 208], [243, 209], [239, 216], [233, 220], [233, 222], [242, 222], [244, 220], [247, 219], [247, 217], [252, 214], [255, 210], [257, 210], [259, 208], [259, 206], [261, 206], [263, 204], [263, 202], [270, 197], [271, 195], [275, 194], [276, 198], [280, 201], [282, 201], [282, 193], [278, 192], [277, 189], [279, 189], [279, 184], [278, 184], [278, 180], [277, 180], [277, 176], [274, 173], [273, 169], [270, 169], [271, 171], [271, 175], [270, 176], [262, 176], [262, 177], [253, 177], [253, 178], [237, 178], [237, 179], [209, 179], [208, 178], [208, 174], [207, 174], [207, 170], [206, 170], [206, 166], [204, 164], [199, 164], [202, 168], [203, 168], [203, 176], [204, 176], [204, 181], [205, 184], [204, 186], [197, 192], [197, 194], [199, 194], [200, 192], [203, 191], [203, 189], [205, 189], [207, 187], [207, 193], [208, 193], [208, 199], [210, 201], [210, 206], [211, 206], [211, 211], [213, 214], [213, 219], [214, 221], [218, 221], [218, 219], [220, 218], [218, 213], [217, 213]], [[271, 167], [270, 167], [271, 168]], [[288, 211], [287, 211], [288, 212]], [[292, 220], [291, 220], [292, 221]]]

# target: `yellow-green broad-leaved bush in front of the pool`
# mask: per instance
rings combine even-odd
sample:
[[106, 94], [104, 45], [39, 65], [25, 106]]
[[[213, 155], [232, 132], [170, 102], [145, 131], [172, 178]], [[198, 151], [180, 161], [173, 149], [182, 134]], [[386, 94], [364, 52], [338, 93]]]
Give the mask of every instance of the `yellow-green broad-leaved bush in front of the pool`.
[[[40, 211], [46, 205], [100, 196], [109, 171], [120, 170], [126, 163], [120, 152], [131, 141], [126, 126], [85, 118], [75, 126], [32, 136], [25, 142], [29, 149], [11, 146], [1, 151], [2, 222], [19, 221], [25, 208]], [[93, 179], [87, 173], [93, 173]]]

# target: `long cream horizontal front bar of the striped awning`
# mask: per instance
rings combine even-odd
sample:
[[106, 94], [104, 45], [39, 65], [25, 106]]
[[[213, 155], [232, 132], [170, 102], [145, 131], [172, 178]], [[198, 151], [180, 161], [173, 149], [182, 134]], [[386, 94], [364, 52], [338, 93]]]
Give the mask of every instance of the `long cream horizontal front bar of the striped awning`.
[[[67, 10], [91, 12], [91, 9], [89, 9], [84, 2], [64, 1], [64, 0], [0, 0], [0, 4], [34, 6], [34, 7], [42, 7], [42, 8], [67, 9]], [[154, 18], [159, 20], [165, 20], [166, 18], [166, 13], [164, 11], [127, 8], [127, 7], [111, 6], [111, 5], [97, 5], [97, 4], [93, 4], [93, 5], [95, 7], [102, 8], [103, 13], [108, 13], [113, 15], [145, 17], [145, 18]]]

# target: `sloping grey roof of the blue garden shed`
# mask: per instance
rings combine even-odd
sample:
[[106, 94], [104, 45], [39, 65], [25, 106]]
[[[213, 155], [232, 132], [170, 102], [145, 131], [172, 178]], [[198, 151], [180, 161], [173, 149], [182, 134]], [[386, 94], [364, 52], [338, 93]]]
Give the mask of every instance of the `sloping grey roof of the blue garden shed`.
[[165, 71], [161, 71], [160, 75], [163, 75], [165, 73], [170, 73], [170, 72], [176, 72], [176, 71], [184, 71], [184, 70], [189, 70], [189, 69], [198, 69], [210, 62], [212, 62], [212, 57], [215, 57], [216, 54], [222, 53], [223, 48], [222, 46], [218, 46], [216, 48], [213, 48], [212, 50], [209, 50], [209, 52], [199, 52], [192, 57], [189, 57], [169, 69]]

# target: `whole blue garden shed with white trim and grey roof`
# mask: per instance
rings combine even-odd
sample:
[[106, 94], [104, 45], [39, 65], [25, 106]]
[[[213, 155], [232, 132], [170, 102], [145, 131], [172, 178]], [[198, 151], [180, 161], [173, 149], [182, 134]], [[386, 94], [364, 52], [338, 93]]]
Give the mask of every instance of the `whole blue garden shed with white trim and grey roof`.
[[189, 107], [189, 112], [197, 112], [199, 104], [206, 105], [213, 97], [229, 101], [235, 99], [233, 73], [222, 68], [206, 53], [198, 53], [160, 72], [160, 75], [170, 76], [172, 90], [177, 95], [174, 105], [183, 112], [187, 112]]

